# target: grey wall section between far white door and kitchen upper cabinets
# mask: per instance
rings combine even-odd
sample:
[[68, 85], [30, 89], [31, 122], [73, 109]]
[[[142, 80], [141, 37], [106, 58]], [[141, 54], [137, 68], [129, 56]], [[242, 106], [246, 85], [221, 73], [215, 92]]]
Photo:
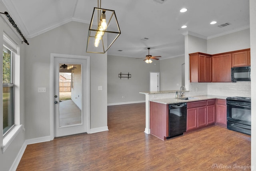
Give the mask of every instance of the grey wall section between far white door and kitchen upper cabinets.
[[[160, 60], [160, 90], [179, 90], [184, 56]], [[178, 84], [178, 85], [177, 85]]]

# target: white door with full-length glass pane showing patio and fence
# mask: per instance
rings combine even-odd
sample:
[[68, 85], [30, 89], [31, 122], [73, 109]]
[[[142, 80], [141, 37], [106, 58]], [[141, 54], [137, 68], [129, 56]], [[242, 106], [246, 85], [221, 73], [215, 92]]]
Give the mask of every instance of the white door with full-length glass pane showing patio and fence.
[[54, 57], [54, 137], [85, 133], [86, 60]]

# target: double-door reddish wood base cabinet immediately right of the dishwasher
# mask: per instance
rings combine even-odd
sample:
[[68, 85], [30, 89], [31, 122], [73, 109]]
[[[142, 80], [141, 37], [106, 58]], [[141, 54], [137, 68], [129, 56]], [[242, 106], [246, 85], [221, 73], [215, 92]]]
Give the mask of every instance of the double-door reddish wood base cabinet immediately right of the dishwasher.
[[187, 103], [187, 131], [206, 126], [206, 100]]

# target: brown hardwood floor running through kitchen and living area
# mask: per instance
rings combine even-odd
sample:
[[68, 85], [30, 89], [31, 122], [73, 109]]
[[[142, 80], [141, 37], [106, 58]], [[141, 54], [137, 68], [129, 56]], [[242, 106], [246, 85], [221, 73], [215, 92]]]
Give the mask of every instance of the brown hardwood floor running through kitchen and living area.
[[144, 133], [145, 103], [108, 106], [108, 128], [28, 145], [17, 171], [250, 170], [249, 135], [212, 126], [162, 141]]

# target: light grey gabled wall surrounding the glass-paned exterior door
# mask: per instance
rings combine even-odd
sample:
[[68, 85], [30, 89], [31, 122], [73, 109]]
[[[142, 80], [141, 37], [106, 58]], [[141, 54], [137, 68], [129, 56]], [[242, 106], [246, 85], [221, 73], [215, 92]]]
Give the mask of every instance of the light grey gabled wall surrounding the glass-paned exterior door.
[[[91, 56], [90, 126], [107, 126], [107, 54], [86, 53], [88, 24], [69, 22], [29, 39], [26, 48], [26, 139], [50, 135], [50, 53]], [[103, 90], [98, 91], [102, 85]], [[46, 87], [46, 93], [38, 93]], [[100, 107], [99, 107], [100, 106]]]

